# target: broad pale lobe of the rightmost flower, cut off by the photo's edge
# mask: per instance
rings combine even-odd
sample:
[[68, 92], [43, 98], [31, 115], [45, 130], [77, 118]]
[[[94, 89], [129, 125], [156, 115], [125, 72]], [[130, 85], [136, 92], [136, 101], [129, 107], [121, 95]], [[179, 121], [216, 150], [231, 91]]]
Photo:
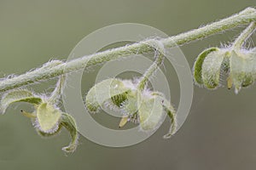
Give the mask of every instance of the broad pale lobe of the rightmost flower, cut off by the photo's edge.
[[242, 53], [233, 50], [230, 56], [230, 78], [236, 94], [241, 87], [253, 84], [256, 77], [256, 58], [251, 52]]

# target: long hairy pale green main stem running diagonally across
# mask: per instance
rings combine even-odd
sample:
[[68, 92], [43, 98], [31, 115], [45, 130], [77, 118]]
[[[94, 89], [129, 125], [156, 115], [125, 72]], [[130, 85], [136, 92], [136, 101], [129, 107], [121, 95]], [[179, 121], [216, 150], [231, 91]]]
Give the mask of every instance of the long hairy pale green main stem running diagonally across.
[[[246, 25], [253, 21], [256, 21], [256, 9], [246, 8], [245, 10], [241, 11], [241, 13], [232, 15], [224, 20], [219, 20], [217, 22], [213, 22], [210, 25], [188, 31], [177, 36], [163, 38], [157, 41], [160, 41], [165, 48], [171, 48], [229, 30], [236, 26]], [[34, 71], [28, 71], [18, 77], [3, 79], [3, 81], [0, 82], [0, 92], [5, 92], [14, 88], [20, 88], [22, 86], [30, 85], [34, 82], [48, 80], [68, 72], [78, 71], [80, 69], [98, 65], [109, 60], [119, 59], [131, 54], [152, 53], [154, 52], [154, 48], [148, 45], [148, 42], [150, 41], [152, 42], [154, 39], [136, 42], [125, 47], [109, 49], [107, 51], [91, 54], [79, 59], [73, 59], [61, 65], [41, 67]]]

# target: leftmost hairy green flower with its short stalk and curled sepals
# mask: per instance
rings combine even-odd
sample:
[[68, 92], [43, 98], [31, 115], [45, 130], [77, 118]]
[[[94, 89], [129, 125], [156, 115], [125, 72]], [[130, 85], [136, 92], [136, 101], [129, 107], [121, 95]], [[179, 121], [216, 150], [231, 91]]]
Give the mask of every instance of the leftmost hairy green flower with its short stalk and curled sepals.
[[61, 97], [61, 88], [64, 77], [61, 76], [56, 84], [56, 88], [50, 96], [34, 94], [26, 88], [15, 89], [3, 94], [0, 101], [0, 111], [6, 112], [9, 105], [16, 102], [26, 102], [33, 106], [33, 112], [28, 113], [21, 110], [23, 116], [32, 120], [39, 135], [43, 137], [54, 136], [61, 132], [61, 128], [65, 127], [70, 133], [71, 142], [68, 146], [63, 147], [65, 152], [73, 152], [78, 144], [79, 133], [73, 116], [62, 112], [59, 108], [59, 99]]

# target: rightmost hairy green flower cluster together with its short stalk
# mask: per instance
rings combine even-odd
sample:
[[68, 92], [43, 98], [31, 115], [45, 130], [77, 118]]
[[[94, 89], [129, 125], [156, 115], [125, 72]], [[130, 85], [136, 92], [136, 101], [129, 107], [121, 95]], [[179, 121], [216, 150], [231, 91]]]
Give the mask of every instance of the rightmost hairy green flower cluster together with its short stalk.
[[255, 30], [256, 23], [252, 22], [232, 45], [207, 48], [199, 54], [194, 65], [195, 82], [215, 89], [220, 86], [220, 77], [226, 76], [227, 88], [234, 87], [236, 94], [252, 85], [256, 80], [256, 48], [245, 48], [244, 44]]

